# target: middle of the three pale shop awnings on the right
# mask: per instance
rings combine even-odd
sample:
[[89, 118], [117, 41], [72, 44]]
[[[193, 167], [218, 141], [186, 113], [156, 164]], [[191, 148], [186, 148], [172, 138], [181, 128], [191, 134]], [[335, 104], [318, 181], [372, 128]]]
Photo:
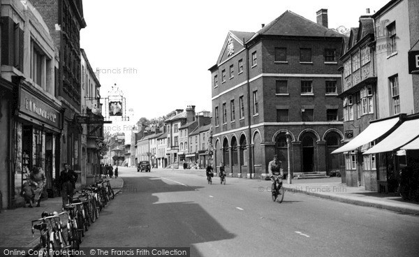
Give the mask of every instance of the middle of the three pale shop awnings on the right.
[[419, 135], [419, 119], [412, 119], [403, 122], [388, 137], [384, 138], [377, 145], [369, 149], [364, 154], [376, 154], [380, 152], [391, 152], [398, 149]]

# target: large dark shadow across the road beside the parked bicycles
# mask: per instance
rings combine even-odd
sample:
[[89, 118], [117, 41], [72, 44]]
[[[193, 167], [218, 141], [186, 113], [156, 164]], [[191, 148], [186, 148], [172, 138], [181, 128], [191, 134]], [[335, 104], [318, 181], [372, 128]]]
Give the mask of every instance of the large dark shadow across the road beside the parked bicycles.
[[101, 213], [101, 220], [108, 223], [108, 233], [96, 233], [101, 242], [112, 242], [115, 247], [191, 247], [191, 256], [203, 256], [194, 244], [236, 236], [198, 203], [174, 202], [190, 198], [188, 195], [203, 187], [175, 184], [152, 174], [128, 176], [124, 175], [117, 201]]

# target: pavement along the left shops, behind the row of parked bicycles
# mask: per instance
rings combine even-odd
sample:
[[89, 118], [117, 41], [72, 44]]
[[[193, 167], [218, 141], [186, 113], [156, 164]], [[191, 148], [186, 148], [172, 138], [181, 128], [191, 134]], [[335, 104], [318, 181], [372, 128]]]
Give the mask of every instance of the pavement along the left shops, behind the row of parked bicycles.
[[[117, 194], [124, 186], [120, 177], [110, 179], [110, 186]], [[80, 189], [76, 185], [76, 188]], [[111, 201], [112, 203], [112, 201]], [[62, 212], [60, 196], [41, 200], [41, 207], [20, 207], [15, 210], [3, 210], [0, 213], [0, 247], [24, 247], [34, 249], [39, 244], [39, 232], [31, 233], [31, 221], [41, 219], [42, 212]], [[99, 217], [100, 219], [100, 217]], [[93, 225], [94, 226], [94, 225]]]

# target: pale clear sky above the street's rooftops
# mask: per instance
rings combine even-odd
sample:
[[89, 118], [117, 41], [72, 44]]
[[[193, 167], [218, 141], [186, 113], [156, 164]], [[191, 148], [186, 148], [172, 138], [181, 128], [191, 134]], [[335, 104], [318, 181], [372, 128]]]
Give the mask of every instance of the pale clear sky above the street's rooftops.
[[358, 27], [366, 8], [374, 13], [388, 1], [84, 0], [80, 47], [99, 73], [101, 96], [116, 84], [135, 120], [152, 119], [187, 105], [212, 109], [208, 68], [229, 30], [256, 32], [286, 10], [316, 22], [321, 8], [329, 28]]

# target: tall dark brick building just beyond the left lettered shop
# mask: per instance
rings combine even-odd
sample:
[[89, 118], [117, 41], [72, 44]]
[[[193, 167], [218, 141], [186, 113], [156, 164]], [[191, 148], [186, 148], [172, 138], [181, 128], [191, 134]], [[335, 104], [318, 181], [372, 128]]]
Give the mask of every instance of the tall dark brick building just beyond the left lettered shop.
[[75, 116], [81, 113], [80, 29], [86, 27], [82, 0], [32, 0], [31, 3], [44, 17], [58, 49], [59, 66], [54, 69], [55, 96], [65, 110], [63, 140], [59, 145], [60, 168], [64, 168], [62, 163], [69, 163], [73, 170], [81, 172], [82, 125], [76, 122]]

